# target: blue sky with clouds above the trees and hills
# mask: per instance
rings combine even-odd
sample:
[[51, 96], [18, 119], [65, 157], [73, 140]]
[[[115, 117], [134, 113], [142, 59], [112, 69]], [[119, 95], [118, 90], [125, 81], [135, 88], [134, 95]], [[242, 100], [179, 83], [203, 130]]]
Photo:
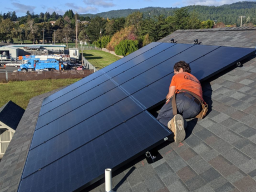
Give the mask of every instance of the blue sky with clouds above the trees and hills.
[[[241, 1], [241, 0], [240, 0]], [[248, 0], [256, 1], [256, 0]], [[15, 11], [18, 17], [25, 16], [26, 12], [55, 11], [63, 15], [68, 9], [78, 14], [101, 13], [119, 9], [139, 9], [144, 7], [184, 7], [188, 5], [221, 6], [239, 2], [237, 0], [0, 0], [0, 12]]]

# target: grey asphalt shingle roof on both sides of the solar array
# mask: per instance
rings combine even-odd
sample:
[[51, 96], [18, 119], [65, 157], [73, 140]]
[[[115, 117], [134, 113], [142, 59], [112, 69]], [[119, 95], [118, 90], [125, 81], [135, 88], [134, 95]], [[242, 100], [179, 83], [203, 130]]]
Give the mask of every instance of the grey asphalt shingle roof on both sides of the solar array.
[[[112, 173], [115, 191], [255, 191], [256, 56], [241, 63], [202, 84], [209, 114], [188, 120], [183, 142], [158, 146], [155, 163], [143, 155]], [[17, 191], [42, 100], [51, 93], [29, 102], [0, 163], [0, 192]], [[83, 191], [104, 192], [104, 180]]]

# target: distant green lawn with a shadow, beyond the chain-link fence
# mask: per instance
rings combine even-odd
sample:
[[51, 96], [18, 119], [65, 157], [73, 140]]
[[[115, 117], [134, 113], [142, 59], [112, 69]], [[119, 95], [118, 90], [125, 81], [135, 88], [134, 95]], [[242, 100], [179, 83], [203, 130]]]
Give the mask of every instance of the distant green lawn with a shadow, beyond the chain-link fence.
[[97, 69], [101, 69], [120, 59], [111, 53], [99, 50], [85, 50], [83, 56]]

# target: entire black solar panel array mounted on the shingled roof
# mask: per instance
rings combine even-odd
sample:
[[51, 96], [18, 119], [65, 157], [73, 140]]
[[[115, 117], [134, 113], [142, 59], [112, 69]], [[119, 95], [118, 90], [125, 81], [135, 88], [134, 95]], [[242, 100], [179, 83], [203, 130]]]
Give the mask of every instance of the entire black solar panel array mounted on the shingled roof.
[[18, 191], [74, 191], [161, 142], [171, 131], [146, 110], [165, 99], [184, 60], [204, 80], [255, 52], [151, 43], [42, 104]]

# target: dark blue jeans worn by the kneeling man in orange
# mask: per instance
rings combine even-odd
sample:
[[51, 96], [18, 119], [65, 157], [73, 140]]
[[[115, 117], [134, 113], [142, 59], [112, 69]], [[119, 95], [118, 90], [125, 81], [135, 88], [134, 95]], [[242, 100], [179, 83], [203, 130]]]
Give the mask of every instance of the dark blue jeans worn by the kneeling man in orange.
[[[178, 114], [182, 115], [184, 119], [190, 119], [195, 117], [201, 111], [201, 104], [196, 102], [195, 97], [189, 94], [188, 92], [181, 92], [176, 94], [176, 105], [177, 105], [177, 112]], [[168, 122], [173, 119], [173, 106], [171, 105], [171, 101], [167, 104], [164, 104], [162, 109], [157, 116], [157, 120], [159, 120], [162, 124], [166, 127], [168, 126]]]

